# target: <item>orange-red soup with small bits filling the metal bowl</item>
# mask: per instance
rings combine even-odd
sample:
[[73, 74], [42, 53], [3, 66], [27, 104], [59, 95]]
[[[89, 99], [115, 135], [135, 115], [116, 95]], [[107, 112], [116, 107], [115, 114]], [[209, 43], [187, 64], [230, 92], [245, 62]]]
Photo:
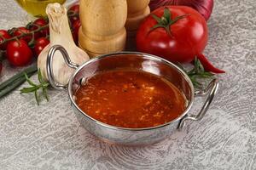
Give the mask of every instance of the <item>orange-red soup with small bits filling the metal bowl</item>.
[[116, 127], [154, 127], [180, 116], [183, 94], [163, 77], [144, 71], [106, 71], [90, 77], [75, 93], [87, 115]]

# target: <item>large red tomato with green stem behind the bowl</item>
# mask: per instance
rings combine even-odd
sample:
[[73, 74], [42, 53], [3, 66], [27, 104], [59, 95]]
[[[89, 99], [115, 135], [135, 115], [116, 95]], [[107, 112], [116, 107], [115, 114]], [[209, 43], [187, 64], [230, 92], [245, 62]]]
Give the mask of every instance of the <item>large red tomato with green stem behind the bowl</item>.
[[154, 10], [137, 31], [137, 50], [172, 62], [191, 62], [206, 45], [206, 20], [185, 6]]

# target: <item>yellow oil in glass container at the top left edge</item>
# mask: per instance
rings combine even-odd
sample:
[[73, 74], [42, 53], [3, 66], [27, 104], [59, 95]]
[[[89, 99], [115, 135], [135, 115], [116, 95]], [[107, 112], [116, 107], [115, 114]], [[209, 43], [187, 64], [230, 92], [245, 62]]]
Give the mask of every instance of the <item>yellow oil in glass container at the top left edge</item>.
[[65, 3], [66, 0], [15, 0], [28, 14], [33, 16], [45, 16], [45, 8], [48, 3]]

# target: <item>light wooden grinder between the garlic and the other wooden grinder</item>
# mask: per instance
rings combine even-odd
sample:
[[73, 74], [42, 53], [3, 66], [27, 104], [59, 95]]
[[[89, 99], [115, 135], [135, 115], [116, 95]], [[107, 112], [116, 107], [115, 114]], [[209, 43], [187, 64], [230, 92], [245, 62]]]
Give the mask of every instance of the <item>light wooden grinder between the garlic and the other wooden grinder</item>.
[[126, 18], [126, 0], [80, 0], [80, 48], [90, 57], [122, 51]]

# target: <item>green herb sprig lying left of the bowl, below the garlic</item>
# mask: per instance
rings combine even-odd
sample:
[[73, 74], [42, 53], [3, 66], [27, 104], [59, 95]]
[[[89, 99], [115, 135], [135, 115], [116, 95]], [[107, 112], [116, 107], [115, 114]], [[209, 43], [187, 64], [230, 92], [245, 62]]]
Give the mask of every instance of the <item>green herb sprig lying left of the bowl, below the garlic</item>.
[[42, 77], [42, 73], [41, 73], [40, 69], [38, 70], [38, 81], [40, 82], [39, 84], [36, 84], [36, 83], [32, 82], [29, 79], [29, 77], [27, 77], [26, 73], [24, 74], [24, 76], [26, 77], [26, 82], [28, 82], [31, 85], [31, 87], [20, 89], [20, 94], [33, 93], [35, 95], [35, 98], [36, 98], [37, 103], [39, 105], [38, 90], [40, 88], [42, 88], [44, 98], [47, 101], [49, 101], [49, 98], [48, 98], [48, 95], [47, 95], [47, 88], [49, 87], [49, 83], [48, 82], [44, 82], [44, 79]]

